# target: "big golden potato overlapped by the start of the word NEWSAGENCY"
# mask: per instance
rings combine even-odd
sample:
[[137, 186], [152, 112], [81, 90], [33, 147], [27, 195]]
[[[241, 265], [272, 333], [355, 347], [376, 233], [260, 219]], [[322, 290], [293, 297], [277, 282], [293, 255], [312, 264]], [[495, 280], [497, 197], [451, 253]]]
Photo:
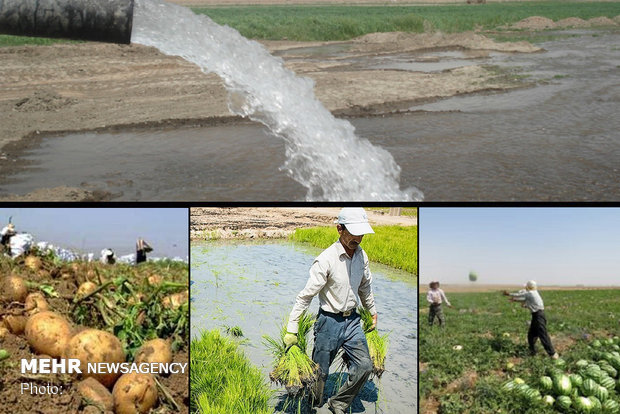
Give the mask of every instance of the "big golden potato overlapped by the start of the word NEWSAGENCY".
[[[79, 359], [81, 366], [86, 366], [89, 362], [125, 362], [121, 341], [111, 333], [98, 329], [86, 329], [71, 338], [65, 348], [64, 357]], [[120, 373], [89, 373], [82, 370], [82, 375], [85, 378], [93, 377], [110, 388]]]

